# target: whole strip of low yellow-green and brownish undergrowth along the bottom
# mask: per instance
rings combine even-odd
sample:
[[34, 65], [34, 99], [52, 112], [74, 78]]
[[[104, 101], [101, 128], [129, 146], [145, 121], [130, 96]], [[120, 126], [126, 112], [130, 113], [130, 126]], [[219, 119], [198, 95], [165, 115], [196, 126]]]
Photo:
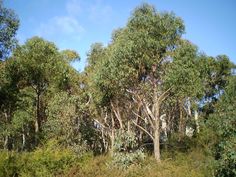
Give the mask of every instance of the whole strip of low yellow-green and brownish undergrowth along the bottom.
[[116, 166], [109, 155], [93, 156], [85, 153], [78, 156], [70, 149], [56, 147], [50, 142], [47, 146], [33, 152], [0, 153], [0, 176], [22, 177], [187, 177], [212, 176], [212, 158], [199, 149], [187, 153], [179, 151], [162, 152], [162, 162], [157, 164], [148, 155], [143, 161], [133, 163], [127, 168]]

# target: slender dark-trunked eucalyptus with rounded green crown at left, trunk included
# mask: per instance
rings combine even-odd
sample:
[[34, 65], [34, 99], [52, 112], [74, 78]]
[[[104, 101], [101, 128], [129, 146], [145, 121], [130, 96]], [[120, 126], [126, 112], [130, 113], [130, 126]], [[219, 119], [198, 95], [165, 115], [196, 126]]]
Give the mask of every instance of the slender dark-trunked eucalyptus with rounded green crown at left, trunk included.
[[19, 63], [25, 86], [35, 94], [35, 132], [41, 129], [45, 120], [45, 105], [43, 96], [49, 83], [57, 72], [58, 49], [53, 43], [34, 37], [13, 53], [13, 58]]

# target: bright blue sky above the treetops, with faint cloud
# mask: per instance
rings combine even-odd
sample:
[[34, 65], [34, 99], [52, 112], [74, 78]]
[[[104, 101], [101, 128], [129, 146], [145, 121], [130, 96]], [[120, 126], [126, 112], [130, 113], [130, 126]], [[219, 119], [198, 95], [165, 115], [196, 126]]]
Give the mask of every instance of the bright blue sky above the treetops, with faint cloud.
[[53, 41], [59, 49], [76, 50], [83, 70], [94, 42], [109, 43], [111, 33], [125, 26], [132, 10], [142, 2], [158, 11], [172, 11], [186, 26], [189, 39], [207, 55], [226, 54], [236, 63], [235, 0], [3, 0], [20, 18], [20, 43], [32, 36]]

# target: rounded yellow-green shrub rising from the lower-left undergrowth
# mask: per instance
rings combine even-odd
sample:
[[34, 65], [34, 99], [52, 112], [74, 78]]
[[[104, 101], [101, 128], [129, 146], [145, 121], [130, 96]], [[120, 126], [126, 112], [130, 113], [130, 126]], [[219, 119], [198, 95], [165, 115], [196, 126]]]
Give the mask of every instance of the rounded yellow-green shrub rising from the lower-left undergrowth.
[[45, 147], [36, 149], [23, 161], [28, 166], [21, 170], [22, 176], [54, 176], [63, 173], [76, 162], [76, 156], [69, 149], [57, 147], [55, 141], [49, 141]]

